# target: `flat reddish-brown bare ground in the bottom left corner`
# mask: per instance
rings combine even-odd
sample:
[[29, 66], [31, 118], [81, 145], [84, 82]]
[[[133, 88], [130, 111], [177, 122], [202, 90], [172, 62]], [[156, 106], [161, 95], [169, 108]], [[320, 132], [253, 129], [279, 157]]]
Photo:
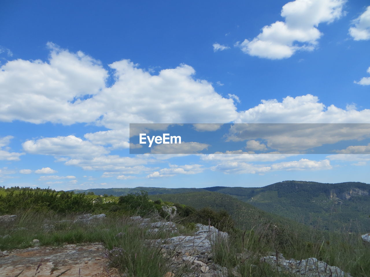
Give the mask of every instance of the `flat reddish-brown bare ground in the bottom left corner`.
[[0, 276], [15, 277], [22, 270], [19, 277], [56, 277], [65, 270], [61, 277], [120, 276], [116, 269], [109, 269], [103, 252], [100, 243], [13, 250], [9, 256], [0, 257]]

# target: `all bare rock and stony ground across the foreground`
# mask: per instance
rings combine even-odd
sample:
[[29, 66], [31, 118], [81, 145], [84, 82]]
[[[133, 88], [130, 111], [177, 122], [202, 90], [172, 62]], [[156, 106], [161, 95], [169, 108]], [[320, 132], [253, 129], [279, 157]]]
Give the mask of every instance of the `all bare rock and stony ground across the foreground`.
[[[104, 215], [105, 216], [105, 215]], [[77, 220], [89, 220], [100, 218], [103, 215], [84, 215]], [[131, 218], [142, 228], [148, 228], [148, 232], [165, 230], [167, 233], [181, 233], [173, 222], [150, 222], [150, 219], [142, 219], [139, 216]], [[47, 225], [46, 228], [53, 228]], [[120, 235], [120, 234], [117, 234]], [[369, 234], [363, 239], [369, 238]], [[241, 276], [234, 269], [226, 269], [213, 261], [212, 242], [216, 239], [228, 239], [226, 232], [221, 232], [213, 226], [196, 224], [196, 231], [188, 236], [174, 236], [167, 239], [151, 240], [151, 243], [161, 245], [162, 254], [168, 255], [172, 250], [175, 255], [169, 259], [170, 271], [164, 277], [231, 277]], [[145, 243], [145, 242], [143, 242]], [[54, 276], [54, 277], [128, 277], [128, 274], [118, 273], [117, 269], [109, 266], [107, 257], [114, 251], [108, 252], [101, 243], [84, 245], [68, 244], [63, 247], [40, 247], [34, 240], [34, 247], [27, 249], [0, 251], [0, 276], [2, 277], [25, 277], [25, 276]], [[239, 254], [240, 264], [256, 254], [246, 252]], [[312, 257], [305, 260], [285, 259], [282, 254], [266, 253], [265, 256], [257, 257], [261, 263], [267, 263], [277, 271], [289, 273], [292, 276], [304, 277], [351, 277], [338, 267], [330, 266], [323, 261]], [[186, 271], [184, 268], [186, 267]], [[181, 273], [180, 272], [186, 272]], [[178, 273], [178, 274], [176, 274]]]

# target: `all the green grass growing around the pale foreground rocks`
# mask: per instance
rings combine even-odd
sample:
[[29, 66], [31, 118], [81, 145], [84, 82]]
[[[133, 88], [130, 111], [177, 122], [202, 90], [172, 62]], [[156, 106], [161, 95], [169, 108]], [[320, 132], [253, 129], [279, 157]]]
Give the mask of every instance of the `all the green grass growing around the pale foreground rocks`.
[[[105, 244], [111, 265], [121, 273], [130, 277], [163, 277], [171, 272], [169, 261], [176, 251], [161, 249], [161, 240], [179, 234], [191, 235], [195, 228], [194, 223], [177, 224], [178, 233], [151, 233], [147, 228], [139, 228], [139, 222], [132, 222], [127, 216], [111, 215], [89, 225], [74, 223], [76, 216], [20, 213], [13, 223], [0, 226], [0, 249], [31, 247], [33, 239], [40, 240], [41, 246], [101, 242]], [[44, 230], [45, 224], [54, 228]], [[364, 244], [358, 233], [330, 233], [317, 229], [308, 232], [307, 228], [299, 229], [299, 225], [292, 228], [260, 221], [251, 224], [253, 228], [237, 229], [230, 233], [228, 240], [218, 239], [212, 245], [212, 260], [237, 277], [291, 276], [260, 262], [260, 257], [270, 252], [282, 253], [286, 259], [316, 257], [354, 277], [370, 276], [370, 245]], [[9, 236], [2, 237], [5, 235]], [[177, 269], [175, 276], [189, 271], [186, 266]]]

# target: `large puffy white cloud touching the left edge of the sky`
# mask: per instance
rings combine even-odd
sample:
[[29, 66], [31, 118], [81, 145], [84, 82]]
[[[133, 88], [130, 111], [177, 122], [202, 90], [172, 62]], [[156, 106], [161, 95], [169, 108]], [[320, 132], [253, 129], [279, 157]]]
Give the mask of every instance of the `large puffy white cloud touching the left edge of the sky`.
[[1, 66], [0, 120], [72, 124], [91, 122], [102, 111], [84, 96], [105, 87], [107, 71], [99, 61], [48, 43], [48, 62], [16, 59]]

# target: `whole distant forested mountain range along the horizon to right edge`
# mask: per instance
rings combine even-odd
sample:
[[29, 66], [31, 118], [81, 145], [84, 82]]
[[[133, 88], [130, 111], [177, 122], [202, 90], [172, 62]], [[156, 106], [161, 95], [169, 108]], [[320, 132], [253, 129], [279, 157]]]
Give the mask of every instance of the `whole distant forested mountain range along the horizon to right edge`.
[[[205, 205], [225, 209], [233, 216], [254, 211], [257, 207], [287, 219], [296, 220], [318, 229], [341, 232], [370, 231], [370, 185], [361, 182], [337, 184], [283, 181], [262, 188], [109, 188], [74, 190], [75, 193], [94, 192], [96, 195], [121, 196], [145, 190], [164, 201], [194, 206]], [[208, 194], [207, 194], [208, 193]], [[209, 193], [216, 193], [217, 197]], [[161, 196], [160, 196], [161, 195]], [[165, 196], [164, 196], [165, 195]], [[226, 195], [228, 196], [225, 198]], [[211, 197], [212, 196], [212, 197]], [[212, 199], [212, 200], [210, 200]], [[233, 201], [240, 200], [238, 204]], [[240, 208], [240, 203], [249, 204]], [[236, 205], [236, 206], [235, 206]], [[234, 211], [235, 210], [235, 211]], [[259, 212], [258, 212], [259, 214]], [[271, 217], [269, 217], [271, 219]]]

